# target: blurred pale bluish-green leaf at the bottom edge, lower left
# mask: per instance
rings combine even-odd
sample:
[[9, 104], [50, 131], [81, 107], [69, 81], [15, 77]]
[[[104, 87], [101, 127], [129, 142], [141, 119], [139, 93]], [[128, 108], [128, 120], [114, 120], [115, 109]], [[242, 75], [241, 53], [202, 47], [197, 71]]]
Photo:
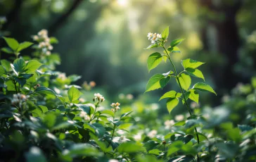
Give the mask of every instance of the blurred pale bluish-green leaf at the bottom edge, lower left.
[[30, 147], [30, 151], [25, 153], [27, 162], [46, 162], [46, 157], [38, 147]]

